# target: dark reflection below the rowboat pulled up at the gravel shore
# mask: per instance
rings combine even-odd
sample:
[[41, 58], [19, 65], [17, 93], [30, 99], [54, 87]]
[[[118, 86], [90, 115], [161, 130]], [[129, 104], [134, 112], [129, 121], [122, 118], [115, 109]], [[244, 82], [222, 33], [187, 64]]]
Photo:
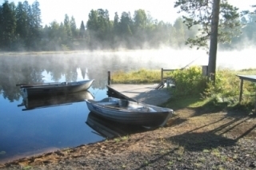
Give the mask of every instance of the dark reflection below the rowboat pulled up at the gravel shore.
[[98, 117], [98, 115], [93, 112], [88, 114], [86, 125], [94, 129], [94, 133], [107, 139], [150, 130], [149, 128], [144, 128], [142, 126], [125, 125], [114, 121], [109, 121], [102, 117]]

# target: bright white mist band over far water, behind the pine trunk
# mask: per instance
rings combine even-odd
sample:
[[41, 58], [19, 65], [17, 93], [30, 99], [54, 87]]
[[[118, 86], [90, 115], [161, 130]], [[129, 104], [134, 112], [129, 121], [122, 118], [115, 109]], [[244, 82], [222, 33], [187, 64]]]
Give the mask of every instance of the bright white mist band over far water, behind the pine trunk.
[[[255, 68], [256, 49], [242, 49], [233, 51], [218, 51], [217, 69], [251, 69]], [[152, 49], [129, 50], [117, 52], [93, 52], [86, 53], [92, 57], [112, 58], [111, 62], [118, 60], [130, 65], [132, 69], [181, 69], [191, 65], [208, 65], [209, 55], [201, 49]], [[113, 64], [113, 63], [112, 63]], [[114, 65], [111, 69], [118, 69]], [[119, 69], [122, 69], [119, 67]]]

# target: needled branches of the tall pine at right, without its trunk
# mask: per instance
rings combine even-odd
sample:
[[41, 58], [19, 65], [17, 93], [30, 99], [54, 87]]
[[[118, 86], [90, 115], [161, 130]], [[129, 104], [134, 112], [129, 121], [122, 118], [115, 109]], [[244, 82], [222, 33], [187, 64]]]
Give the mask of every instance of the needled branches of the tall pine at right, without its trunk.
[[[183, 16], [183, 21], [190, 29], [193, 26], [201, 26], [199, 34], [195, 38], [188, 38], [186, 44], [190, 47], [198, 46], [208, 49], [208, 41], [211, 30], [211, 19], [213, 18], [214, 0], [177, 0], [174, 7], [179, 7], [187, 15]], [[221, 1], [218, 21], [218, 42], [231, 42], [231, 38], [241, 34], [241, 23], [239, 21], [238, 8], [231, 6], [226, 0]]]

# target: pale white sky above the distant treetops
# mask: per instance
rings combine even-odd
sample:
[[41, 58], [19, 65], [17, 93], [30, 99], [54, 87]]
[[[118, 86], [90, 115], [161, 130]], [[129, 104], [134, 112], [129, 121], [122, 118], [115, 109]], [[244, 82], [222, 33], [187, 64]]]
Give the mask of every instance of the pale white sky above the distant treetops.
[[[8, 0], [18, 5], [18, 2], [25, 0]], [[27, 0], [30, 5], [35, 0]], [[241, 10], [249, 10], [250, 5], [256, 4], [255, 0], [228, 0], [231, 5], [237, 6]], [[0, 0], [1, 5], [4, 0]], [[110, 20], [114, 20], [114, 13], [118, 12], [121, 17], [122, 12], [130, 12], [134, 15], [134, 10], [145, 10], [150, 12], [152, 18], [163, 22], [174, 23], [175, 19], [181, 16], [178, 9], [174, 8], [175, 0], [38, 0], [41, 10], [42, 26], [50, 25], [54, 20], [58, 23], [63, 22], [65, 14], [70, 18], [73, 16], [77, 27], [83, 21], [85, 24], [88, 20], [90, 10], [108, 10]]]

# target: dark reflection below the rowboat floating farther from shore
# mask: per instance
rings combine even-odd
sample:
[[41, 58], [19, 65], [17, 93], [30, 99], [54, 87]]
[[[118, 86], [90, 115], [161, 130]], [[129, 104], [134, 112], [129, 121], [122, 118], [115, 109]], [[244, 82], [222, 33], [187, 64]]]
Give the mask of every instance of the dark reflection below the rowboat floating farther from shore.
[[26, 109], [40, 109], [47, 108], [59, 105], [70, 105], [75, 102], [85, 101], [86, 99], [94, 99], [94, 96], [90, 93], [90, 91], [85, 90], [77, 93], [66, 93], [59, 95], [50, 95], [47, 94], [45, 96], [40, 97], [23, 97], [22, 104], [18, 105], [25, 106]]

